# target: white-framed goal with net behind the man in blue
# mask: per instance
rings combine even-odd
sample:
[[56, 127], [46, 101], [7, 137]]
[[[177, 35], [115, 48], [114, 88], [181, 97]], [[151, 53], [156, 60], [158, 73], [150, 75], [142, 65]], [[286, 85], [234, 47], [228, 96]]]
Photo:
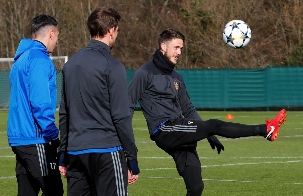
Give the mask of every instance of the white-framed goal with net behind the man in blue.
[[[57, 85], [57, 108], [60, 106], [61, 86], [62, 86], [62, 68], [67, 62], [67, 56], [51, 56], [56, 69]], [[10, 68], [14, 63], [14, 58], [0, 58], [0, 108], [8, 109], [10, 104]]]

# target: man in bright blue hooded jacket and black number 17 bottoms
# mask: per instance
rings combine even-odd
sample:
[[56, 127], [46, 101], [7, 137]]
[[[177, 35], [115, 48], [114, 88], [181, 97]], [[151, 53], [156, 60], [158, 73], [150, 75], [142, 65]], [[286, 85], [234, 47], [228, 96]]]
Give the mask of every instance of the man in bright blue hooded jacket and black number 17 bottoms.
[[[63, 195], [56, 160], [56, 71], [50, 54], [59, 35], [49, 15], [31, 22], [32, 39], [22, 39], [10, 71], [8, 143], [16, 154], [18, 195]], [[51, 145], [50, 145], [51, 142]]]

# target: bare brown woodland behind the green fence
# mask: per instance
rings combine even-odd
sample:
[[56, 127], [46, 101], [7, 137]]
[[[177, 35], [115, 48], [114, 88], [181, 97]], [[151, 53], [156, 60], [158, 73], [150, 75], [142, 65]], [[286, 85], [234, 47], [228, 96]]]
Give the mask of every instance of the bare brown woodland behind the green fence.
[[[158, 36], [168, 28], [186, 36], [176, 68], [303, 64], [301, 0], [0, 0], [0, 57], [14, 56], [20, 39], [30, 38], [30, 21], [39, 14], [52, 15], [59, 23], [59, 44], [52, 55], [73, 55], [88, 44], [85, 21], [100, 6], [121, 15], [111, 55], [127, 69], [151, 60]], [[234, 19], [252, 30], [250, 43], [241, 49], [229, 48], [222, 39], [225, 24]]]

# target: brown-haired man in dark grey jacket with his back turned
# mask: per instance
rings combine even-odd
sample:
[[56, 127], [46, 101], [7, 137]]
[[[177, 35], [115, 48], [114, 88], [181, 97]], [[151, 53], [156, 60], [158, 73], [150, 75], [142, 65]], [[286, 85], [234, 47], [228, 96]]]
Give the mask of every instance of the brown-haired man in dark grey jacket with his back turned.
[[126, 71], [109, 55], [119, 20], [114, 9], [94, 10], [87, 19], [92, 39], [63, 67], [59, 169], [69, 195], [127, 195], [127, 179], [138, 178]]

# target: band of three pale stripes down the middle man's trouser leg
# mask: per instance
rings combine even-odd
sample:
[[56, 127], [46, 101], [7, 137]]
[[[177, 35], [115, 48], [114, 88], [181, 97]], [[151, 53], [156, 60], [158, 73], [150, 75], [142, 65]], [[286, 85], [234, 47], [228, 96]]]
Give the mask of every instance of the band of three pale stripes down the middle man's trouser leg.
[[123, 180], [123, 173], [122, 173], [122, 165], [119, 158], [119, 152], [111, 152], [111, 157], [113, 158], [114, 169], [115, 169], [115, 178], [116, 178], [116, 186], [117, 186], [117, 195], [118, 196], [125, 196], [125, 189], [124, 189], [124, 180]]

